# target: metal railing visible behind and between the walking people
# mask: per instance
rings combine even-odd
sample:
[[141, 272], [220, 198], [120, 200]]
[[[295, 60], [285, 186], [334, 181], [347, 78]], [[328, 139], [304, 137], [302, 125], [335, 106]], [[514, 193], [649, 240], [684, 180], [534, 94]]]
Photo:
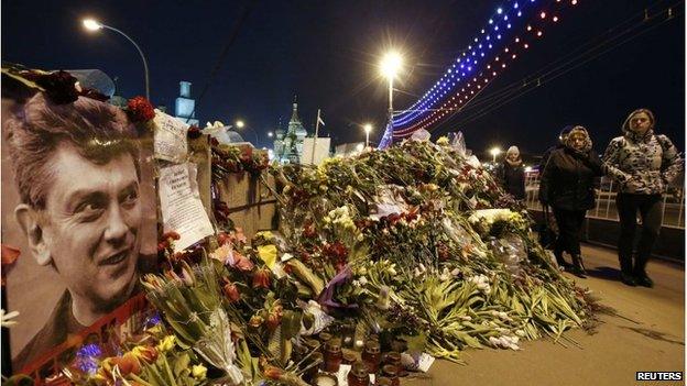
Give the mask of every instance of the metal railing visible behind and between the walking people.
[[[618, 186], [612, 178], [601, 177], [601, 184], [596, 189], [596, 207], [587, 211], [587, 218], [619, 221], [615, 207]], [[542, 210], [538, 199], [539, 175], [537, 172], [525, 174], [525, 200], [527, 209]], [[662, 227], [685, 229], [685, 190], [679, 188], [670, 194], [663, 195]], [[640, 220], [641, 221], [641, 220]]]

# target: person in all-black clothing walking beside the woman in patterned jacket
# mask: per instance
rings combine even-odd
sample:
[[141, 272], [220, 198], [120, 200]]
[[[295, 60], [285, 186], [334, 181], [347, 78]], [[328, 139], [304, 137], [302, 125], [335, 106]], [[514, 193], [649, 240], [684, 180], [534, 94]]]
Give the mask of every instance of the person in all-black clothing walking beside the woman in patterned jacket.
[[586, 277], [580, 256], [579, 233], [588, 209], [595, 206], [595, 178], [601, 175], [601, 161], [591, 150], [587, 129], [575, 126], [565, 147], [552, 153], [539, 183], [539, 200], [553, 207], [558, 223], [554, 247], [556, 262], [565, 266], [563, 253], [572, 256], [571, 272]]

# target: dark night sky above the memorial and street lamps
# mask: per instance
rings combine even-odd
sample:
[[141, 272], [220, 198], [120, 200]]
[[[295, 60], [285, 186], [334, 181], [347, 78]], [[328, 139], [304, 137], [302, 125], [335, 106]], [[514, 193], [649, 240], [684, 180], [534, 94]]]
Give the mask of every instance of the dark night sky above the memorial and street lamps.
[[[567, 0], [564, 0], [567, 1]], [[83, 30], [95, 16], [130, 34], [146, 53], [151, 97], [172, 108], [178, 81], [197, 97], [209, 80], [248, 0], [237, 1], [2, 1], [2, 59], [44, 69], [99, 68], [119, 77], [120, 93], [143, 93], [142, 65], [123, 37]], [[675, 0], [580, 0], [545, 38], [490, 84], [481, 98], [522, 81], [645, 7]], [[324, 111], [335, 144], [361, 141], [360, 124], [381, 128], [386, 97], [377, 63], [385, 47], [406, 55], [397, 87], [423, 95], [482, 27], [499, 1], [255, 1], [197, 109], [208, 120], [241, 118], [268, 145], [266, 132], [291, 115], [293, 96], [306, 128]], [[473, 118], [455, 117], [437, 132], [461, 129], [468, 146], [547, 147], [568, 123], [586, 125], [603, 151], [625, 114], [647, 107], [658, 131], [685, 148], [684, 4], [669, 22], [620, 45], [509, 103]], [[402, 109], [414, 97], [395, 93]], [[479, 99], [476, 99], [479, 101]], [[486, 106], [486, 104], [482, 104]], [[377, 134], [381, 135], [378, 129]], [[253, 140], [253, 133], [244, 135]], [[377, 135], [375, 135], [377, 136]]]

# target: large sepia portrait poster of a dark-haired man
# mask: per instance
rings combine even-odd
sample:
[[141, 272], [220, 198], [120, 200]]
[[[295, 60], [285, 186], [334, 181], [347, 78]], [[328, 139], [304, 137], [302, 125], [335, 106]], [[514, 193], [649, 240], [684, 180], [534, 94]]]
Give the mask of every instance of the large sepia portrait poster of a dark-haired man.
[[20, 312], [14, 372], [107, 318], [155, 266], [152, 139], [118, 107], [51, 91], [2, 76], [2, 244], [21, 252], [3, 287]]

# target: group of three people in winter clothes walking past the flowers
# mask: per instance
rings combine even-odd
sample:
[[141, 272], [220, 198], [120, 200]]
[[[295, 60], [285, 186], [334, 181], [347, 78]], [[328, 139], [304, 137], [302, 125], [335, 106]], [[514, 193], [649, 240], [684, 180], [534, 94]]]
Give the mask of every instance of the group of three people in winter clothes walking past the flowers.
[[[655, 125], [650, 110], [632, 111], [622, 124], [622, 135], [611, 140], [602, 157], [593, 151], [587, 129], [566, 126], [559, 143], [542, 156], [538, 199], [545, 213], [549, 207], [553, 211], [558, 229], [553, 251], [563, 269], [586, 277], [580, 231], [587, 210], [595, 207], [599, 177], [609, 176], [618, 186], [621, 280], [629, 286], [653, 287], [646, 263], [661, 231], [662, 196], [683, 172], [679, 152], [666, 135], [655, 133]], [[525, 168], [517, 146], [508, 150], [497, 176], [509, 194], [525, 198]], [[635, 251], [637, 212], [642, 232]], [[564, 258], [566, 252], [571, 263]]]

